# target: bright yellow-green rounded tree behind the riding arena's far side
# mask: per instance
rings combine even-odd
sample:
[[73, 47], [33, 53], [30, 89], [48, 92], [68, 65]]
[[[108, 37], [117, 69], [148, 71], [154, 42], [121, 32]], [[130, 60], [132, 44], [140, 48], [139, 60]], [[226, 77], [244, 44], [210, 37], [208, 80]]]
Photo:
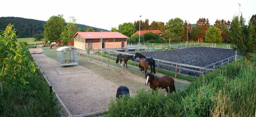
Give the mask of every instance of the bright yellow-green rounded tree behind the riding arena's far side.
[[220, 29], [215, 26], [209, 27], [204, 38], [209, 43], [220, 43], [222, 41]]

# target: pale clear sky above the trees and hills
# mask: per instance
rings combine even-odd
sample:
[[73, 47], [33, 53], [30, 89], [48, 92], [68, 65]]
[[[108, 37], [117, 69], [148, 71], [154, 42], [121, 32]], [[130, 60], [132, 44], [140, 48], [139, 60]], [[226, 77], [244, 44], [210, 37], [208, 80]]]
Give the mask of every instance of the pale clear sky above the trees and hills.
[[124, 22], [149, 19], [168, 22], [179, 17], [195, 24], [200, 17], [208, 18], [211, 25], [216, 19], [232, 20], [238, 15], [239, 5], [248, 21], [256, 14], [256, 0], [2, 0], [0, 17], [23, 17], [48, 20], [63, 14], [69, 21], [110, 30]]

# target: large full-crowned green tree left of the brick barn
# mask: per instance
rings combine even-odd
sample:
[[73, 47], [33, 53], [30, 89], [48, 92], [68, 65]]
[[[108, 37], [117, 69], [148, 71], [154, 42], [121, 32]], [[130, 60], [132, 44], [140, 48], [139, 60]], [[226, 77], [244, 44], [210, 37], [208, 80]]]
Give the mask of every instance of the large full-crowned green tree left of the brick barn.
[[45, 29], [44, 37], [46, 40], [54, 41], [60, 39], [60, 34], [64, 30], [65, 20], [63, 15], [52, 16], [47, 20], [46, 24], [43, 25]]

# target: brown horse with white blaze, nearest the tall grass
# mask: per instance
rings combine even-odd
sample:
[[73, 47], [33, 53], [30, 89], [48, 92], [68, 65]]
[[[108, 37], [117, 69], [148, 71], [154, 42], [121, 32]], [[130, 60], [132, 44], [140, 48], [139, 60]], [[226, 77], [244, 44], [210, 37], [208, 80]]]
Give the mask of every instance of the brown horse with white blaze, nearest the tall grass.
[[163, 76], [158, 78], [157, 76], [154, 76], [153, 74], [149, 73], [146, 75], [146, 85], [148, 84], [149, 87], [153, 90], [157, 88], [165, 89], [166, 93], [164, 96], [167, 96], [169, 93], [168, 87], [170, 88], [170, 93], [172, 93], [172, 91], [176, 92], [174, 86], [174, 79], [171, 76]]

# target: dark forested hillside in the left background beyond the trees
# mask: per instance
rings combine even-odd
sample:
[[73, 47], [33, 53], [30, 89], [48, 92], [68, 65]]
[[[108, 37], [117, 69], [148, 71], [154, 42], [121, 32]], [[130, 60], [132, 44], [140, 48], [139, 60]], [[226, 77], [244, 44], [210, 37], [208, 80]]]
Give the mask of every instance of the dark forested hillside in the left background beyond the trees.
[[[5, 27], [11, 23], [14, 25], [14, 28], [16, 29], [16, 34], [20, 38], [26, 38], [26, 37], [32, 37], [36, 33], [43, 33], [43, 25], [45, 24], [46, 21], [41, 21], [41, 20], [34, 20], [34, 19], [26, 19], [26, 18], [21, 18], [21, 17], [0, 17], [0, 30], [5, 30]], [[78, 24], [77, 28], [87, 28], [91, 26], [83, 25], [83, 24]], [[95, 28], [92, 27], [93, 29], [96, 29], [98, 31], [104, 30], [108, 31], [105, 29], [101, 28]]]

